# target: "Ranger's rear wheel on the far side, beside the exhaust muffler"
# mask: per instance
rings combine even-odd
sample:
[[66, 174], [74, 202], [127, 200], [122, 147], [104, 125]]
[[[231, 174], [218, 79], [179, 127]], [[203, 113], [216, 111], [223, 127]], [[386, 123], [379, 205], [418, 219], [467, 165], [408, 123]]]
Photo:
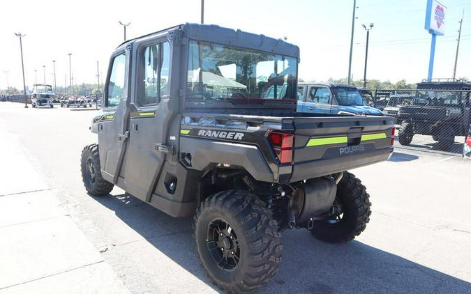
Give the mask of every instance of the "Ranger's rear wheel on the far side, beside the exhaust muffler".
[[327, 221], [315, 221], [311, 233], [315, 238], [342, 243], [353, 240], [366, 229], [371, 215], [370, 195], [352, 173], [345, 171], [337, 185], [334, 201], [335, 216]]

